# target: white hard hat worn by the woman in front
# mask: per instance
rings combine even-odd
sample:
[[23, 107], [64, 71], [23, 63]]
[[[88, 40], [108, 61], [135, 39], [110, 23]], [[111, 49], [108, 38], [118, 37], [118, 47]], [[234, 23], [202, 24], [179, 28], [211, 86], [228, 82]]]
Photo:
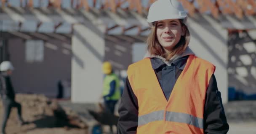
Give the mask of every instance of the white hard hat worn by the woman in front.
[[147, 22], [166, 19], [185, 19], [187, 12], [178, 0], [157, 0], [149, 8]]

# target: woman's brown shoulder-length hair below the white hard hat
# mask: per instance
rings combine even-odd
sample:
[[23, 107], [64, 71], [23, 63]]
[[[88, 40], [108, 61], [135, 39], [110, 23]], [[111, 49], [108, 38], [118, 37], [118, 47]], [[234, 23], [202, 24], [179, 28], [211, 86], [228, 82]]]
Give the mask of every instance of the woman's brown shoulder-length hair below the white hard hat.
[[181, 39], [179, 42], [173, 47], [173, 51], [171, 53], [165, 53], [165, 50], [163, 49], [163, 46], [159, 43], [156, 36], [156, 25], [157, 23], [153, 23], [151, 27], [151, 33], [149, 33], [149, 36], [147, 38], [147, 44], [148, 44], [148, 51], [150, 54], [159, 55], [162, 57], [165, 57], [166, 60], [171, 59], [175, 54], [181, 54], [185, 51], [187, 48], [189, 41], [190, 41], [190, 33], [187, 26], [183, 23], [182, 19], [179, 19], [179, 22], [181, 23], [181, 28], [184, 28], [184, 36], [181, 36]]

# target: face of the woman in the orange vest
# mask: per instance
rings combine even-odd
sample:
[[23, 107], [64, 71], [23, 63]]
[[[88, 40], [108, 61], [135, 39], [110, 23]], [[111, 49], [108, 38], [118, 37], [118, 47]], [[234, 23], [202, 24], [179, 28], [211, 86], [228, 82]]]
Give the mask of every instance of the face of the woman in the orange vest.
[[184, 36], [184, 30], [179, 19], [161, 20], [157, 21], [156, 35], [165, 52], [171, 52], [181, 36]]

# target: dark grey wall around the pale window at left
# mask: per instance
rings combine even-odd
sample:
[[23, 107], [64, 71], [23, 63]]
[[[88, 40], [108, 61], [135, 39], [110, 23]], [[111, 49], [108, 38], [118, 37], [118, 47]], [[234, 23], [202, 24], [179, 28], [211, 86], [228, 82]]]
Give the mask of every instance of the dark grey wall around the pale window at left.
[[[49, 39], [44, 42], [42, 62], [27, 62], [25, 40], [8, 40], [10, 59], [15, 70], [12, 75], [13, 86], [18, 93], [42, 93], [48, 97], [57, 94], [58, 80], [71, 77], [71, 40]], [[52, 46], [52, 47], [49, 47]]]

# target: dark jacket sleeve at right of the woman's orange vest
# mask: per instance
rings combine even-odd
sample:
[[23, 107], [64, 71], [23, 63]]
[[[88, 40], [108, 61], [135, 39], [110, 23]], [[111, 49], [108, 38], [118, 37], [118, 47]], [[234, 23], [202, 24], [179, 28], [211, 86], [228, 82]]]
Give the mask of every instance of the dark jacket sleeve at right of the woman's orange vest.
[[217, 88], [216, 78], [212, 75], [205, 96], [204, 133], [227, 134], [228, 130], [221, 93]]

